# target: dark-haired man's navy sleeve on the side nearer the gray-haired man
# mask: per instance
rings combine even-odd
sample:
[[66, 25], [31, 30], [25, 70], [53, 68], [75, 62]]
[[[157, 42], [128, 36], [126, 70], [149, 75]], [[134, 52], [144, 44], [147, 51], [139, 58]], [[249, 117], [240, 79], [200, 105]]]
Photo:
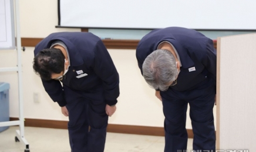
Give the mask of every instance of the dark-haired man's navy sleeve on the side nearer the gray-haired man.
[[103, 42], [95, 47], [94, 71], [103, 81], [104, 97], [107, 105], [115, 105], [119, 96], [119, 74]]

